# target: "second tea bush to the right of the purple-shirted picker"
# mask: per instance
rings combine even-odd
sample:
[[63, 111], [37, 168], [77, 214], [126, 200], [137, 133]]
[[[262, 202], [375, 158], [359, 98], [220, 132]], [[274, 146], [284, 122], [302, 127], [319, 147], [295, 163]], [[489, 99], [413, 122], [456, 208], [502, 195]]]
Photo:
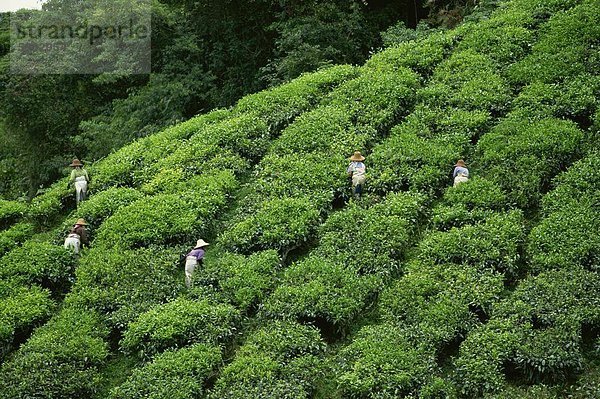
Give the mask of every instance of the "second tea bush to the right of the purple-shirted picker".
[[347, 326], [372, 299], [381, 282], [317, 256], [294, 263], [267, 298], [262, 312], [277, 318], [324, 319]]

